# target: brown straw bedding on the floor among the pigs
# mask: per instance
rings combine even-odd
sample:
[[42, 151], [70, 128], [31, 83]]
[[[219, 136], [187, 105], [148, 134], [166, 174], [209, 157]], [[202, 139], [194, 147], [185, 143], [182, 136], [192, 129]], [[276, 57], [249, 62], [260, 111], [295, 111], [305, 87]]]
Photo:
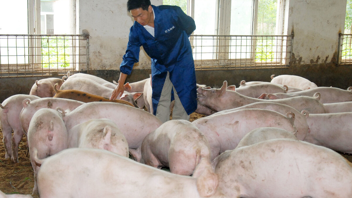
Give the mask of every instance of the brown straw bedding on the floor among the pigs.
[[[190, 121], [204, 117], [204, 115], [192, 113]], [[4, 193], [31, 194], [34, 186], [33, 169], [27, 152], [26, 138], [23, 137], [19, 143], [18, 161], [13, 164], [10, 159], [5, 159], [5, 147], [2, 143], [2, 132], [0, 133], [0, 190]], [[352, 162], [352, 154], [342, 154]], [[34, 198], [39, 198], [37, 194]]]

